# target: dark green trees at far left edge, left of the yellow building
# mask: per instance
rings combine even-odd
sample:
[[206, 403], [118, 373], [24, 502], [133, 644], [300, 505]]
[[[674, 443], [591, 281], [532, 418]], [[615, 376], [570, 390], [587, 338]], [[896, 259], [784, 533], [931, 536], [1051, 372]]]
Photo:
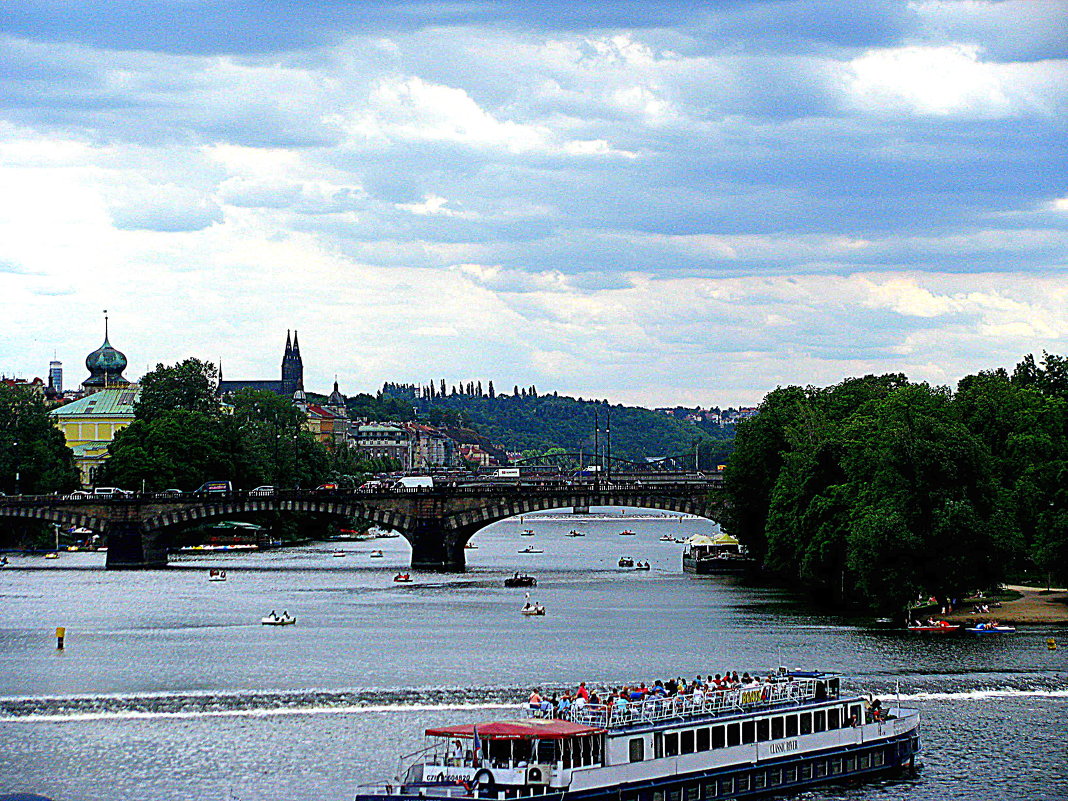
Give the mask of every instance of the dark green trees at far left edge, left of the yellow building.
[[77, 486], [74, 456], [42, 397], [28, 388], [0, 386], [0, 491], [35, 494]]

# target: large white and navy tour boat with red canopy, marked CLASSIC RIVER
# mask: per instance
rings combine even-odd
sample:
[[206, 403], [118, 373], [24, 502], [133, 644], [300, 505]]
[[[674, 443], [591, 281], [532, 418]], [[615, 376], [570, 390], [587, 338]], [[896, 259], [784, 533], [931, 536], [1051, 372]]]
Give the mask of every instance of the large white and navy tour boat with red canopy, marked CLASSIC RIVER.
[[356, 801], [781, 796], [910, 769], [920, 751], [917, 710], [873, 711], [836, 676], [784, 669], [755, 687], [528, 714], [425, 729], [406, 772]]

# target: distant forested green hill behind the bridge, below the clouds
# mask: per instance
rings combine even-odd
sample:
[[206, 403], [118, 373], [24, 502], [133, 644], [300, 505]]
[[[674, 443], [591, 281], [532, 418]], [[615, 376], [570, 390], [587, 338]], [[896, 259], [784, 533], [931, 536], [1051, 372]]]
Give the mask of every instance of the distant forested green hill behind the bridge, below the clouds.
[[[723, 464], [733, 443], [729, 430], [709, 433], [692, 423], [637, 406], [613, 406], [607, 400], [556, 394], [539, 395], [533, 387], [490, 395], [477, 386], [449, 394], [436, 391], [429, 396], [426, 388], [387, 383], [377, 398], [368, 395], [349, 398], [350, 413], [366, 417], [380, 417], [379, 410], [388, 410], [394, 420], [405, 419], [400, 407], [407, 407], [412, 417], [431, 425], [474, 428], [508, 451], [545, 453], [550, 449], [567, 452], [581, 449], [592, 453], [595, 415], [600, 423], [601, 438], [606, 421], [611, 418], [612, 455], [635, 461], [692, 454], [694, 444], [700, 443], [701, 467], [710, 469]], [[600, 444], [603, 445], [603, 441]]]

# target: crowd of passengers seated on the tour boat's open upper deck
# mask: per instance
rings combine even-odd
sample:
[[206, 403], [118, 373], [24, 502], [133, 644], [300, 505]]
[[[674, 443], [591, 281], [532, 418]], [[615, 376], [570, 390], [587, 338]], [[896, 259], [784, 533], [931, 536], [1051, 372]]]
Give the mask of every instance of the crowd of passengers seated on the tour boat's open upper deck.
[[[576, 713], [583, 708], [591, 707], [598, 710], [611, 709], [613, 716], [626, 713], [633, 704], [656, 698], [678, 698], [687, 702], [692, 707], [701, 707], [706, 701], [714, 701], [718, 695], [722, 695], [729, 690], [761, 689], [764, 697], [770, 697], [772, 688], [787, 688], [796, 686], [796, 681], [789, 676], [765, 676], [750, 675], [748, 672], [740, 676], [737, 671], [729, 673], [717, 673], [714, 676], [697, 676], [692, 681], [685, 678], [671, 678], [666, 681], [657, 679], [651, 686], [642, 681], [637, 687], [618, 687], [614, 690], [609, 688], [602, 691], [591, 690], [586, 682], [582, 681], [575, 692], [564, 692], [557, 695], [552, 693], [544, 697], [539, 689], [535, 689], [528, 700], [531, 711], [536, 717], [543, 718], [564, 718], [578, 717]], [[787, 690], [786, 692], [789, 692]]]

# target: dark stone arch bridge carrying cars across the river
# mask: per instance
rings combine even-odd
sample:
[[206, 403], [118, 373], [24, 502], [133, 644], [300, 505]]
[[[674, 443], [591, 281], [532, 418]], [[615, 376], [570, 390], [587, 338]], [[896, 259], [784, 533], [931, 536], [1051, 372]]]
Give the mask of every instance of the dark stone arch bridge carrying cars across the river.
[[211, 496], [143, 493], [122, 498], [0, 498], [0, 518], [80, 525], [105, 535], [109, 569], [167, 565], [177, 527], [257, 512], [305, 512], [361, 518], [399, 532], [412, 567], [462, 570], [464, 546], [498, 520], [561, 507], [643, 506], [713, 517], [718, 476], [624, 482], [486, 484], [386, 490], [276, 490]]

